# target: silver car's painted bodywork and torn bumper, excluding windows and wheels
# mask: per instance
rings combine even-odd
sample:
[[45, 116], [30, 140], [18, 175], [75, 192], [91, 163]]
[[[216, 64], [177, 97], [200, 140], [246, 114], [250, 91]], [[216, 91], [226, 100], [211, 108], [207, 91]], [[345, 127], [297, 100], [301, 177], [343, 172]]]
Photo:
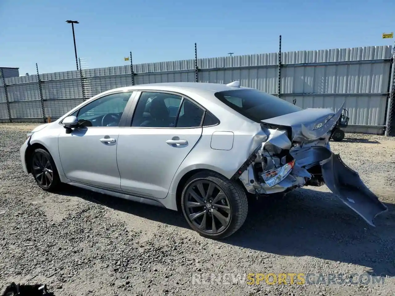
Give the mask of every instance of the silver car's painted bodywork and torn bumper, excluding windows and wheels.
[[[358, 176], [333, 160], [329, 146], [331, 131], [342, 108], [337, 112], [331, 109], [305, 109], [258, 123], [245, 118], [214, 96], [215, 92], [237, 89], [240, 90], [237, 86], [225, 84], [175, 82], [141, 84], [103, 92], [84, 101], [55, 122], [36, 127], [30, 142], [26, 141], [21, 147], [23, 169], [28, 171], [26, 150], [32, 144], [40, 144], [52, 155], [60, 180], [64, 183], [177, 210], [177, 187], [185, 174], [207, 169], [230, 179], [256, 152], [256, 159], [239, 177], [248, 192], [271, 194], [302, 187], [312, 177], [308, 169], [319, 165], [328, 187], [373, 225], [374, 217], [385, 206], [366, 186], [363, 187]], [[72, 112], [107, 94], [155, 90], [189, 97], [213, 113], [220, 124], [189, 129], [87, 127], [75, 129], [69, 134], [61, 125], [62, 120]], [[133, 99], [134, 96], [130, 98]], [[124, 112], [133, 111], [133, 106]], [[282, 130], [284, 126], [291, 130], [290, 138], [288, 132]], [[228, 136], [229, 132], [233, 133], [232, 139], [226, 136], [222, 142], [220, 133], [223, 131], [228, 131]], [[104, 144], [100, 139], [105, 137], [111, 137], [115, 142]], [[187, 144], [169, 145], [166, 141], [174, 137], [186, 140]], [[295, 159], [292, 172], [273, 187], [257, 180], [254, 165], [261, 166], [263, 171], [280, 167], [285, 164], [286, 157], [275, 155], [284, 151]], [[350, 174], [353, 179], [348, 185], [361, 190], [344, 189], [342, 178]], [[359, 203], [354, 205], [350, 200]]]

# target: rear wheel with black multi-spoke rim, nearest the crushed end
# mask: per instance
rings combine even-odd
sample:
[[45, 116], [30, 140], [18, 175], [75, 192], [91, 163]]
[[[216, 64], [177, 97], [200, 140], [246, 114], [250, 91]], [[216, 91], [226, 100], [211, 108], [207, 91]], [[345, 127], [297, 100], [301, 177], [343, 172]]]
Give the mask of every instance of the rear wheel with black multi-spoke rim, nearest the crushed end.
[[190, 227], [206, 238], [226, 238], [244, 223], [248, 202], [240, 184], [216, 172], [199, 172], [184, 185], [182, 213]]

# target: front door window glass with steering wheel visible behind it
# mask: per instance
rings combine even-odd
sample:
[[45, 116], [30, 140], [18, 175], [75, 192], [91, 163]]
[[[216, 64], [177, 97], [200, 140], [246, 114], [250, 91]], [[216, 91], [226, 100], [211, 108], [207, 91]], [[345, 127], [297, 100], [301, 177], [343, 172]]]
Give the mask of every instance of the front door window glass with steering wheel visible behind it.
[[119, 126], [132, 92], [110, 94], [85, 105], [76, 113], [80, 126]]

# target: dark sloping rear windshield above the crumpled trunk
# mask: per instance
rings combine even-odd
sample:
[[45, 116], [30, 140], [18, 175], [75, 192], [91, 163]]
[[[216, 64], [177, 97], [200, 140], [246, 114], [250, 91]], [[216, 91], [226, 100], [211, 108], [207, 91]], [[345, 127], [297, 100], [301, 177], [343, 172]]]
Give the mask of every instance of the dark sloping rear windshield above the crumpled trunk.
[[216, 92], [215, 96], [255, 122], [303, 110], [283, 99], [258, 90], [226, 90]]

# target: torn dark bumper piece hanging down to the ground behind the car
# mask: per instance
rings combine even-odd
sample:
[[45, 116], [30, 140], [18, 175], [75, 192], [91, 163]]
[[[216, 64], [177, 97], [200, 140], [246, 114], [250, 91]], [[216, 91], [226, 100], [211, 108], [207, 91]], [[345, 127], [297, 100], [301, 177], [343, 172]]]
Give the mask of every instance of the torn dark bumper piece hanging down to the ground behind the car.
[[367, 223], [374, 225], [374, 218], [386, 212], [387, 207], [363, 184], [359, 174], [343, 163], [340, 156], [321, 162], [322, 176], [327, 187]]

